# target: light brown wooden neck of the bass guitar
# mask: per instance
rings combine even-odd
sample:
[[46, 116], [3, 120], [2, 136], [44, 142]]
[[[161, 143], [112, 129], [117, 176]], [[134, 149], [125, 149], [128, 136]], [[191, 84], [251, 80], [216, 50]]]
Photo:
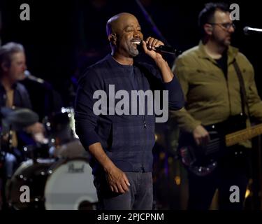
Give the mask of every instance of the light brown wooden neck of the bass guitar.
[[246, 141], [252, 139], [259, 134], [262, 134], [262, 124], [255, 125], [253, 127], [248, 127], [245, 130], [240, 130], [238, 132], [233, 132], [226, 135], [226, 146], [233, 146], [240, 143], [240, 141]]

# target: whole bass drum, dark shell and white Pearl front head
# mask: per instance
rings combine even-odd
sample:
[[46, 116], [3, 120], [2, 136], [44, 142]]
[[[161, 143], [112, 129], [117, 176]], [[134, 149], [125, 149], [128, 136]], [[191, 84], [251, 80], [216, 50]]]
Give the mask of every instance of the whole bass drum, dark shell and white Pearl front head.
[[[29, 186], [30, 202], [20, 202], [21, 186]], [[22, 162], [6, 184], [10, 208], [95, 209], [98, 202], [92, 168], [86, 158], [37, 159]]]

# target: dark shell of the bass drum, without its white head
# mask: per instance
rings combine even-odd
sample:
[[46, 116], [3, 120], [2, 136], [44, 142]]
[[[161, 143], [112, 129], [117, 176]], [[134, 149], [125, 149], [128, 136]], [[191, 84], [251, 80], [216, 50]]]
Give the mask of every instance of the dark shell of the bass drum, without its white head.
[[[52, 164], [54, 164], [52, 159], [22, 162], [12, 178], [6, 183], [8, 206], [17, 210], [45, 209], [45, 182], [48, 179], [48, 169], [50, 169]], [[29, 199], [29, 202], [27, 199]]]

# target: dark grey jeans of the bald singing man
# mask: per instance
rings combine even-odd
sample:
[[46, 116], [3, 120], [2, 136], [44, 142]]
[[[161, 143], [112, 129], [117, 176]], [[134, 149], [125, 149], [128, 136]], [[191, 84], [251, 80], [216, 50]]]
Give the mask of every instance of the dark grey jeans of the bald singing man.
[[105, 174], [94, 176], [99, 197], [99, 210], [152, 210], [153, 184], [151, 172], [125, 172], [129, 179], [129, 191], [113, 193], [106, 181]]

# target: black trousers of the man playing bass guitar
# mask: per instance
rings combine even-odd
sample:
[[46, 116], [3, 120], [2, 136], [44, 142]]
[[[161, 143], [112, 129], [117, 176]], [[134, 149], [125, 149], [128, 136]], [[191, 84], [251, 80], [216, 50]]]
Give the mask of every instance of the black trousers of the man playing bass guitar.
[[[208, 176], [196, 176], [189, 172], [188, 209], [207, 210], [210, 207], [215, 190], [219, 193], [219, 209], [243, 209], [245, 192], [251, 173], [251, 149], [238, 146], [228, 148], [228, 153], [218, 161], [218, 167]], [[235, 154], [237, 153], [237, 154]], [[229, 198], [231, 186], [240, 189], [240, 202], [232, 203]]]

